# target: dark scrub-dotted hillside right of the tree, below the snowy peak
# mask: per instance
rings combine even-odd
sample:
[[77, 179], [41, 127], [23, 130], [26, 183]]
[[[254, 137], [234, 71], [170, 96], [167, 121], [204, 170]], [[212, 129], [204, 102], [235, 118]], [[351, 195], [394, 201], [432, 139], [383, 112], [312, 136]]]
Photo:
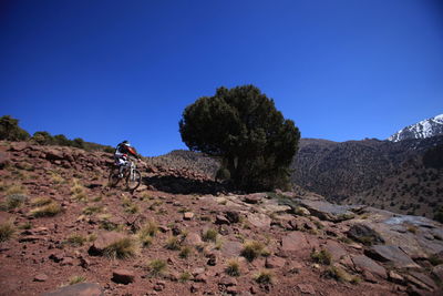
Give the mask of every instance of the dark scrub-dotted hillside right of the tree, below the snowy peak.
[[[352, 197], [408, 213], [402, 204], [425, 203], [416, 214], [432, 216], [432, 203], [439, 203], [443, 191], [443, 171], [423, 163], [426, 152], [443, 143], [443, 136], [401, 142], [364, 140], [342, 143], [302, 139], [293, 162], [292, 181], [300, 186], [340, 202]], [[387, 185], [389, 184], [389, 185]], [[387, 190], [387, 186], [390, 190]]]

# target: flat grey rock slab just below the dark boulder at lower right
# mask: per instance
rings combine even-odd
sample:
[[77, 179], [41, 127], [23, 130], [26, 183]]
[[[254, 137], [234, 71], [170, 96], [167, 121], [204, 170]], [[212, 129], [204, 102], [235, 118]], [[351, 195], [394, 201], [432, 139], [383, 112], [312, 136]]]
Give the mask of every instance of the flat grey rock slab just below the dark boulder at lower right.
[[421, 268], [398, 246], [374, 245], [365, 253], [373, 259], [390, 263], [398, 268]]

